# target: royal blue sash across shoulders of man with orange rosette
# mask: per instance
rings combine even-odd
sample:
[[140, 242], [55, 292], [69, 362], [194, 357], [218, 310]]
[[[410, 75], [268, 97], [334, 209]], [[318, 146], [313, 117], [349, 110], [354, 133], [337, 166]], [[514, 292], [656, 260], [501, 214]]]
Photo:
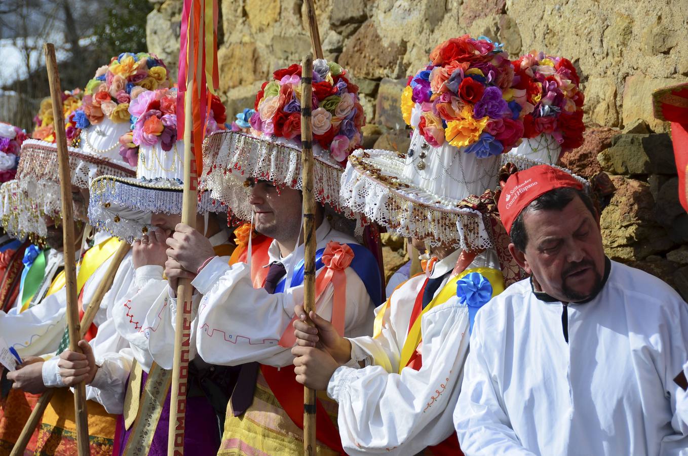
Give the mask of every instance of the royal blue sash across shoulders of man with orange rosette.
[[[350, 268], [353, 268], [358, 278], [361, 279], [368, 296], [373, 301], [373, 306], [377, 307], [382, 303], [382, 277], [380, 277], [380, 270], [378, 269], [378, 262], [373, 254], [367, 248], [359, 246], [358, 244], [347, 244], [354, 251], [354, 258], [351, 261]], [[324, 248], [315, 252], [315, 270], [320, 270], [323, 264]], [[275, 293], [283, 293], [286, 278], [282, 279], [275, 288]], [[297, 287], [303, 283], [303, 260], [299, 261], [290, 287]]]

